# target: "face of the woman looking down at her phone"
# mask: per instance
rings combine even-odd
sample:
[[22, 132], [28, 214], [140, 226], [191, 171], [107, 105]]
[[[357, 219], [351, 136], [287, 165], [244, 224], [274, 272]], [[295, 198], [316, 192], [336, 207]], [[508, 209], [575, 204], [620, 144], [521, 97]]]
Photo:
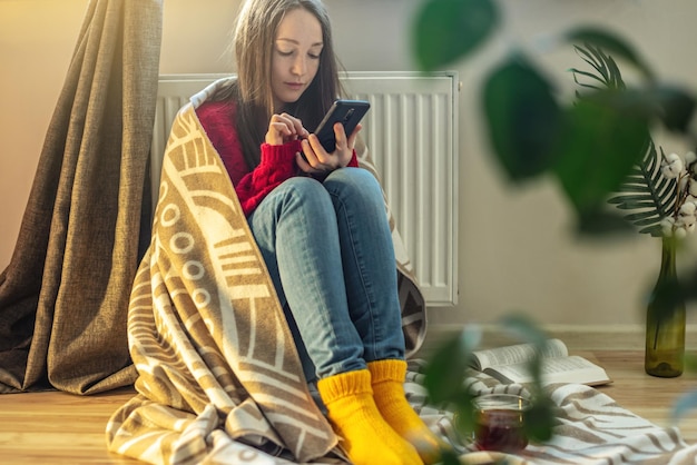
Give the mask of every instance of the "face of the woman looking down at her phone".
[[278, 24], [271, 67], [274, 109], [300, 99], [320, 68], [322, 26], [305, 9], [285, 14]]

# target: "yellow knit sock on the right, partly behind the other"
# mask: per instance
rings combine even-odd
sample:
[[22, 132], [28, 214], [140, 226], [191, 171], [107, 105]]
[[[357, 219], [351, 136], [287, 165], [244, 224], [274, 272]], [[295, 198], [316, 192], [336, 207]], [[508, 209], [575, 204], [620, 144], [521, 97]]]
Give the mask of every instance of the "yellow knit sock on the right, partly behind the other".
[[367, 364], [371, 372], [375, 405], [385, 422], [419, 452], [425, 464], [440, 461], [441, 448], [446, 444], [429, 429], [404, 395], [406, 362], [376, 360]]

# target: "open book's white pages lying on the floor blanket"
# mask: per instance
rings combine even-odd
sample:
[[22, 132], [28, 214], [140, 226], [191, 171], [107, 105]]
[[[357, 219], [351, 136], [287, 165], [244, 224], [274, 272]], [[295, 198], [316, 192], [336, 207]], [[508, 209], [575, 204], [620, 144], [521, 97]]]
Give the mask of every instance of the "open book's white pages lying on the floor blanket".
[[[526, 363], [490, 367], [484, 373], [503, 383], [530, 383]], [[576, 355], [548, 358], [542, 364], [542, 383], [578, 383], [595, 386], [610, 383], [602, 367]]]

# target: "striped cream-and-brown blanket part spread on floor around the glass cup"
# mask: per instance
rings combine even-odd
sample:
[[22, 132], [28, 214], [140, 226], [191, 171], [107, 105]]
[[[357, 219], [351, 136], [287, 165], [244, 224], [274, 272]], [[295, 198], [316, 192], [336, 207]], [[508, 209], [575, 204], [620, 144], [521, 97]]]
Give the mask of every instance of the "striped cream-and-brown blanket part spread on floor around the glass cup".
[[[697, 464], [697, 445], [687, 445], [678, 428], [662, 428], [618, 405], [600, 390], [578, 384], [547, 386], [558, 407], [552, 438], [530, 444], [518, 455], [478, 452], [453, 427], [453, 414], [426, 404], [419, 374], [423, 362], [410, 363], [405, 383], [410, 403], [420, 416], [461, 455], [463, 464], [509, 465], [684, 465]], [[503, 385], [483, 373], [472, 372], [467, 385], [477, 395], [510, 393], [528, 397], [522, 385]]]

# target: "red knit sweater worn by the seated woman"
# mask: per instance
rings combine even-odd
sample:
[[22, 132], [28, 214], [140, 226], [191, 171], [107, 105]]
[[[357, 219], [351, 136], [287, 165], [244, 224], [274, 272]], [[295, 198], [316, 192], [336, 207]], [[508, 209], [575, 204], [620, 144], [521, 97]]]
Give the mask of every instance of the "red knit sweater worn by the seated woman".
[[[196, 109], [208, 139], [223, 159], [242, 209], [245, 216], [249, 216], [278, 185], [303, 175], [295, 162], [295, 154], [301, 151], [301, 142], [294, 140], [282, 146], [262, 144], [259, 165], [249, 171], [237, 137], [235, 112], [235, 105], [227, 101], [209, 101]], [[359, 166], [355, 151], [348, 166]]]

